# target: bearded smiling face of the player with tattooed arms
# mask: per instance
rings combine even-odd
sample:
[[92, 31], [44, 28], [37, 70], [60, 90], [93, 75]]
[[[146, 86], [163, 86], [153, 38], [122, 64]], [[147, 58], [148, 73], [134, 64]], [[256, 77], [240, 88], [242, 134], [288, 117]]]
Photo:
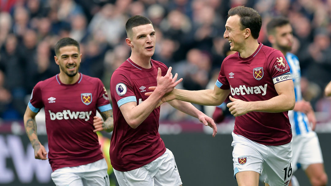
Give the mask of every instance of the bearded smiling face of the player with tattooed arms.
[[78, 73], [81, 54], [79, 54], [76, 46], [69, 45], [61, 47], [54, 59], [56, 64], [60, 66], [61, 74], [67, 74], [69, 77], [73, 77]]

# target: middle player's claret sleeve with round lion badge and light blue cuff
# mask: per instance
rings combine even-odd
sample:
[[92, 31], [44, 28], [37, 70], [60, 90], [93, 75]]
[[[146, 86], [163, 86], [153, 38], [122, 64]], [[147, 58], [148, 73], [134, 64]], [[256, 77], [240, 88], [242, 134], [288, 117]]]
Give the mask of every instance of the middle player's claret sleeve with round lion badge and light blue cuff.
[[137, 102], [129, 75], [121, 70], [115, 70], [110, 80], [110, 91], [113, 92], [118, 107], [128, 102]]

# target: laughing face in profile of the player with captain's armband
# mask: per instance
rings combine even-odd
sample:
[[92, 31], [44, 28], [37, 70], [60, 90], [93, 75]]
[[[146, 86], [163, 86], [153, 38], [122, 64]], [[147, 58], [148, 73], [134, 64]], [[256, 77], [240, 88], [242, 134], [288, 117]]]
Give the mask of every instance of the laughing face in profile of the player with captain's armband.
[[241, 30], [240, 17], [238, 15], [230, 16], [225, 24], [224, 39], [230, 43], [232, 51], [240, 52], [245, 40], [245, 29]]

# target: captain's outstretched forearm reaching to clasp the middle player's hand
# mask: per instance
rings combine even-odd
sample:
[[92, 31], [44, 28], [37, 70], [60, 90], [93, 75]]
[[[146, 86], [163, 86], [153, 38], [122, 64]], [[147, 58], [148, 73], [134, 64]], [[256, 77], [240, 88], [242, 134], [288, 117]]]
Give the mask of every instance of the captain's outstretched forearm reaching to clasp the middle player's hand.
[[212, 89], [196, 91], [175, 89], [175, 95], [177, 100], [190, 102], [198, 105], [212, 106], [222, 104], [227, 96], [226, 95], [224, 98], [219, 98], [213, 94]]

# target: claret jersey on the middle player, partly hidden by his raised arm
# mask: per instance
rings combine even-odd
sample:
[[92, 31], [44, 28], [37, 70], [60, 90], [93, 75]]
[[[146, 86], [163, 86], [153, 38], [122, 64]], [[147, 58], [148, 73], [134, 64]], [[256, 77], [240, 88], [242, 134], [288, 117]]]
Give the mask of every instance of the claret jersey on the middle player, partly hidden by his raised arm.
[[127, 59], [114, 71], [110, 80], [113, 103], [114, 130], [110, 142], [110, 160], [118, 171], [129, 171], [142, 167], [166, 152], [159, 134], [160, 107], [137, 127], [131, 128], [119, 107], [125, 103], [137, 102], [148, 98], [148, 87], [157, 86], [158, 67], [164, 76], [168, 70], [165, 64], [151, 60], [152, 68], [144, 69]]

